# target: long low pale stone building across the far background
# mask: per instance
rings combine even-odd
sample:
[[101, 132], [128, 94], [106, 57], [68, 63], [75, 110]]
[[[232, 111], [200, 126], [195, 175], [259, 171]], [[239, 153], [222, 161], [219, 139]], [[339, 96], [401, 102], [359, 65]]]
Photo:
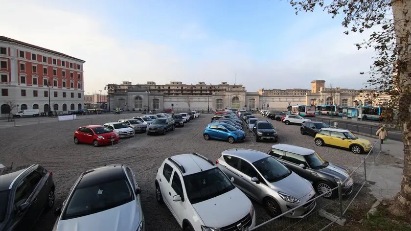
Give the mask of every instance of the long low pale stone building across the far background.
[[356, 106], [361, 100], [364, 105], [381, 105], [388, 97], [373, 97], [372, 92], [354, 89], [325, 88], [325, 80], [314, 80], [310, 89], [260, 89], [247, 92], [242, 85], [221, 82], [217, 85], [196, 85], [172, 81], [157, 85], [155, 82], [132, 85], [131, 82], [108, 84], [109, 108], [124, 110], [223, 110], [240, 108], [247, 110], [286, 109], [288, 105], [338, 104]]

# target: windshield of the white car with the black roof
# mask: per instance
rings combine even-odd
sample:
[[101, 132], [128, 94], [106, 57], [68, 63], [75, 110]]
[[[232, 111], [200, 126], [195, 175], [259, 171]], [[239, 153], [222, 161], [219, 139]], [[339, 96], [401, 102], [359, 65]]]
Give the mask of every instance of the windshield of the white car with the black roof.
[[133, 201], [126, 179], [76, 188], [63, 214], [63, 220], [87, 216]]

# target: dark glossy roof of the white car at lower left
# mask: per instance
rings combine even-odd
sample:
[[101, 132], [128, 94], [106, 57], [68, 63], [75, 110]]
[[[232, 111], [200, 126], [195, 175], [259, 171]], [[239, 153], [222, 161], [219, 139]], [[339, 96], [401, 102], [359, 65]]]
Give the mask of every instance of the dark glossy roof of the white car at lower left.
[[126, 176], [123, 172], [123, 165], [110, 164], [85, 171], [77, 185], [79, 187], [88, 187], [101, 183], [124, 179]]

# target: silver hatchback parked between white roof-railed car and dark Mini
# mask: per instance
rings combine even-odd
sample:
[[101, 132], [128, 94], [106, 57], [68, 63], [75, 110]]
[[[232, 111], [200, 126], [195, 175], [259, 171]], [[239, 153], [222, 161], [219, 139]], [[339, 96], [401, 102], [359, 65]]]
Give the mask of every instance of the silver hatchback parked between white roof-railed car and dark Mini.
[[271, 217], [304, 205], [284, 215], [303, 218], [316, 207], [313, 186], [268, 154], [250, 149], [228, 149], [221, 153], [216, 163], [229, 178], [234, 178], [234, 185], [263, 204]]

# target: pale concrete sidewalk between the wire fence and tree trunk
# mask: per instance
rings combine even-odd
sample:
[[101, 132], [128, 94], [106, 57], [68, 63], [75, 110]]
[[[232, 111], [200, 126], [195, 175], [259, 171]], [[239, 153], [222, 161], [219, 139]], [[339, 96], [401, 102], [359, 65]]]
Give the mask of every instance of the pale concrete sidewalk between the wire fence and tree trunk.
[[[377, 139], [357, 135], [372, 143]], [[377, 199], [389, 200], [400, 191], [404, 168], [404, 144], [400, 141], [387, 140], [382, 144], [382, 151], [374, 165], [367, 168], [368, 188]], [[373, 158], [371, 158], [373, 159]], [[371, 160], [372, 161], [372, 160]], [[368, 162], [368, 161], [367, 161]], [[364, 172], [364, 169], [358, 169]]]

